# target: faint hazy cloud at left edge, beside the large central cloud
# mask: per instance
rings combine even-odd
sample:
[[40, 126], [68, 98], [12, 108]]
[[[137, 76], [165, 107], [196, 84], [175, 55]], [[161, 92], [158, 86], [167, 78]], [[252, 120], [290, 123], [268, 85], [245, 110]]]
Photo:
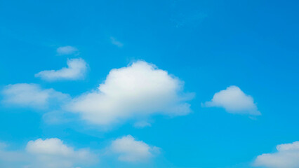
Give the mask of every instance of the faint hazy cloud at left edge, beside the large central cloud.
[[67, 94], [51, 89], [41, 89], [33, 83], [6, 85], [2, 91], [5, 104], [45, 108], [50, 102], [61, 102], [68, 98]]

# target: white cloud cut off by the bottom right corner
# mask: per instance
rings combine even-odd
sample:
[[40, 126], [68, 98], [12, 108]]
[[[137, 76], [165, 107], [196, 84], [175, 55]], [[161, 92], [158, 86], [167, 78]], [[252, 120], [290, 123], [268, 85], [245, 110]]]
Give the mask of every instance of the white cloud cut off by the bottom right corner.
[[292, 144], [278, 145], [276, 153], [259, 155], [254, 162], [255, 166], [267, 168], [298, 168], [299, 141]]

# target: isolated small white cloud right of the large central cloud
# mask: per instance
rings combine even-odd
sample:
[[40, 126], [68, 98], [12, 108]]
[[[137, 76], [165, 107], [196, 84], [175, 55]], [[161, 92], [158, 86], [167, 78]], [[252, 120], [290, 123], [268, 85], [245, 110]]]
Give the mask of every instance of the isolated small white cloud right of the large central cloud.
[[228, 113], [260, 115], [253, 98], [237, 86], [230, 86], [226, 90], [215, 93], [211, 102], [206, 102], [204, 106], [222, 107]]

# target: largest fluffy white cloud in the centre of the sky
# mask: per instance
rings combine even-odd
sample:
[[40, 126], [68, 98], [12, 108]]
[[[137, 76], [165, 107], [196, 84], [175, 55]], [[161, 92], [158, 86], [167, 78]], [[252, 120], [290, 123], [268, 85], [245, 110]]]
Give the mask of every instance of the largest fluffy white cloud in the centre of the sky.
[[98, 90], [82, 94], [67, 105], [69, 111], [94, 124], [109, 125], [152, 114], [182, 116], [190, 113], [190, 99], [182, 92], [182, 81], [138, 61], [112, 69]]

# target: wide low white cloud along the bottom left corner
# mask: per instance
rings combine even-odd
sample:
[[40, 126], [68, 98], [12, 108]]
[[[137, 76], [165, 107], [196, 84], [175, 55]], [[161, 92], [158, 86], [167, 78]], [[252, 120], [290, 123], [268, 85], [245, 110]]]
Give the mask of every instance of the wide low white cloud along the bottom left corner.
[[54, 138], [29, 141], [24, 151], [0, 149], [0, 160], [10, 167], [15, 165], [27, 168], [73, 168], [93, 165], [98, 161], [98, 157], [88, 149], [75, 151], [60, 139]]

